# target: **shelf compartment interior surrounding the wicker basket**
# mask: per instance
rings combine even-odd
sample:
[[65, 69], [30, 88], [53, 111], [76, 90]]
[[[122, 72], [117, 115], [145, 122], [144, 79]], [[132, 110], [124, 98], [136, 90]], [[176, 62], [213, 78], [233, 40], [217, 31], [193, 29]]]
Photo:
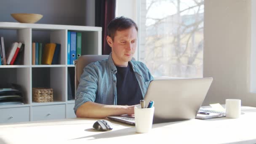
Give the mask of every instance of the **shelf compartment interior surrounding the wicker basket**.
[[32, 88], [53, 88], [53, 101], [65, 101], [65, 69], [66, 67], [32, 67]]

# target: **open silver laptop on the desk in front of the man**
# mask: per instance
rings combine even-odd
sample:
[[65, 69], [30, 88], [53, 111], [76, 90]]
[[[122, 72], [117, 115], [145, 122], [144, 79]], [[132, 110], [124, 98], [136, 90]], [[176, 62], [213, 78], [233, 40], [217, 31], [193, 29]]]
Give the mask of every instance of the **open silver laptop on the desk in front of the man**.
[[[194, 119], [212, 81], [212, 77], [152, 80], [144, 100], [146, 107], [149, 101], [154, 101], [153, 123]], [[135, 125], [134, 116], [121, 115], [108, 118]]]

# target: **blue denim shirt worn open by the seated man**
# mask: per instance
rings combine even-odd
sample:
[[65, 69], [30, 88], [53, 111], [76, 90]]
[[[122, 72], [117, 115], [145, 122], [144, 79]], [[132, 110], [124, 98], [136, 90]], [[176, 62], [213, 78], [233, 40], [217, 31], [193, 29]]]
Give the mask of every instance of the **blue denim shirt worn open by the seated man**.
[[[129, 61], [138, 80], [142, 97], [144, 98], [150, 81], [153, 80], [147, 66], [140, 61]], [[117, 68], [112, 60], [111, 53], [108, 59], [88, 64], [83, 69], [80, 83], [76, 91], [75, 107], [80, 107], [87, 101], [99, 104], [117, 105]]]

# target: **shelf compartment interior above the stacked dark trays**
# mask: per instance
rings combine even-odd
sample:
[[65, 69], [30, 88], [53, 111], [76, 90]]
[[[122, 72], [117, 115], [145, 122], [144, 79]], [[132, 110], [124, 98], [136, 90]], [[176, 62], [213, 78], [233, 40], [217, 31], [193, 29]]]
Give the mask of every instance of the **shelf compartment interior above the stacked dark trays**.
[[22, 91], [24, 104], [30, 101], [30, 68], [1, 68], [0, 85], [8, 88], [10, 84], [17, 84]]

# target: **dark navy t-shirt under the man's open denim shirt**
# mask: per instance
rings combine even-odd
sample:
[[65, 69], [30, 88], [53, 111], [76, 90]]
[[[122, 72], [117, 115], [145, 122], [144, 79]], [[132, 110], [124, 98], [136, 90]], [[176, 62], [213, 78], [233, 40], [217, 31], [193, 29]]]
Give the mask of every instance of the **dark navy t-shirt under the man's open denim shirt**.
[[128, 63], [128, 67], [117, 67], [115, 75], [117, 77], [117, 105], [139, 104], [142, 94], [131, 64]]

